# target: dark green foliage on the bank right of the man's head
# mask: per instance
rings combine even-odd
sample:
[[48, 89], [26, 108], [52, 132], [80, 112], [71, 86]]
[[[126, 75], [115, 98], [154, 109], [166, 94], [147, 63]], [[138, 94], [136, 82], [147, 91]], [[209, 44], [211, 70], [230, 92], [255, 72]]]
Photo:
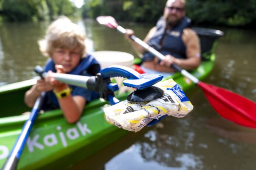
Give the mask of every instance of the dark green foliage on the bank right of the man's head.
[[255, 0], [187, 0], [186, 11], [196, 24], [245, 26], [256, 21]]

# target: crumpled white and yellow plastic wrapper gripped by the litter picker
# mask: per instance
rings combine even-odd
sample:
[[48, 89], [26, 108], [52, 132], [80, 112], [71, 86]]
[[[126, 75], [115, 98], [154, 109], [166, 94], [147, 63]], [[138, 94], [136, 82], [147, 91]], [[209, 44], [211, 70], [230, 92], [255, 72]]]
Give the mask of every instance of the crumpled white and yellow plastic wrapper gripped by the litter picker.
[[193, 105], [173, 79], [154, 86], [164, 91], [162, 97], [142, 103], [125, 100], [104, 108], [106, 120], [119, 128], [137, 132], [153, 119], [159, 119], [166, 114], [180, 118], [192, 111]]

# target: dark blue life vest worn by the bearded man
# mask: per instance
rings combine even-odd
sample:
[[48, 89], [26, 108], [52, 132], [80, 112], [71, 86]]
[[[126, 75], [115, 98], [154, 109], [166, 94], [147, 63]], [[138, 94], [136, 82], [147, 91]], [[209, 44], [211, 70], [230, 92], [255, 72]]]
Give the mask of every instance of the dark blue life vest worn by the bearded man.
[[[182, 41], [181, 36], [183, 30], [190, 26], [191, 19], [184, 17], [177, 26], [166, 30], [166, 21], [163, 19], [163, 17], [161, 17], [156, 23], [156, 33], [147, 42], [147, 44], [163, 55], [170, 54], [176, 58], [186, 58], [186, 46]], [[149, 52], [145, 52], [143, 54], [143, 61], [152, 61], [153, 59], [154, 55], [150, 54]]]

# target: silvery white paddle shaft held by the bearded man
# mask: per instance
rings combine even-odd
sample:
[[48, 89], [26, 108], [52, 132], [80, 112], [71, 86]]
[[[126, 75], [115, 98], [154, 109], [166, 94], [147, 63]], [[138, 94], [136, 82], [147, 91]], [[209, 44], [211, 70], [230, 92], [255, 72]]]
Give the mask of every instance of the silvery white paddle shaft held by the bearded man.
[[[117, 26], [116, 28], [119, 32], [125, 34], [126, 33], [126, 29], [122, 28], [120, 25]], [[154, 48], [150, 47], [147, 43], [145, 43], [144, 41], [142, 41], [141, 39], [139, 39], [138, 37], [131, 35], [130, 38], [135, 41], [135, 43], [141, 45], [146, 51], [148, 51], [149, 53], [155, 55], [156, 57], [158, 57], [159, 59], [163, 60], [164, 59], [164, 55], [159, 53], [159, 51], [155, 50]], [[187, 77], [188, 79], [190, 79], [192, 82], [198, 84], [200, 81], [193, 75], [191, 75], [188, 71], [182, 69], [181, 67], [179, 67], [178, 65], [172, 64], [171, 65], [172, 68], [174, 68], [175, 70], [181, 72], [181, 74], [185, 77]]]

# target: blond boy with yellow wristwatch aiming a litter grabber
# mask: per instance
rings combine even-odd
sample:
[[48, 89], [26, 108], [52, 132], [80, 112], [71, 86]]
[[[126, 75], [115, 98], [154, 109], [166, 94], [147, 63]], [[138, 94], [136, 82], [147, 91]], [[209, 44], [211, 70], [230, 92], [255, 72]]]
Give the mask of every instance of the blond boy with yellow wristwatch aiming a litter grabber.
[[58, 82], [51, 73], [92, 76], [99, 72], [98, 62], [85, 53], [85, 34], [70, 19], [61, 17], [51, 23], [39, 46], [40, 51], [50, 57], [44, 68], [48, 73], [25, 93], [25, 103], [32, 107], [41, 92], [46, 91], [43, 110], [61, 108], [69, 123], [77, 122], [86, 102], [98, 98], [98, 94]]

